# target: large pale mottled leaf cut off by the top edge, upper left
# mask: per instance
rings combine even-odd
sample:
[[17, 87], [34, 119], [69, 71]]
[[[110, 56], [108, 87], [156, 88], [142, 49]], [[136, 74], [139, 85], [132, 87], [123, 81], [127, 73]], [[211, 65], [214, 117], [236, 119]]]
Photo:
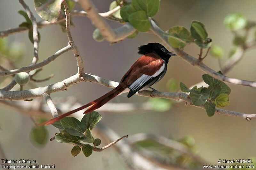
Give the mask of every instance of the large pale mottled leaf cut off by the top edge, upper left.
[[48, 0], [35, 0], [36, 12], [42, 19], [51, 23], [56, 22], [60, 15], [62, 0], [53, 0], [51, 4], [39, 11], [38, 8], [47, 2]]

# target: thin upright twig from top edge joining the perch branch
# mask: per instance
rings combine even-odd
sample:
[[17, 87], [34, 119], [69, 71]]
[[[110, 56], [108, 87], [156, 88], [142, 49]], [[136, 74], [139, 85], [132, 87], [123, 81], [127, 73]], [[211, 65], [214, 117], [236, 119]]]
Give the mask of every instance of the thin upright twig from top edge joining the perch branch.
[[84, 63], [83, 63], [83, 59], [82, 57], [80, 56], [80, 52], [78, 51], [73, 39], [72, 39], [72, 36], [71, 36], [71, 32], [70, 32], [70, 13], [69, 13], [69, 10], [68, 10], [68, 4], [66, 3], [66, 1], [64, 0], [63, 1], [63, 5], [64, 5], [64, 8], [65, 8], [65, 15], [66, 15], [66, 32], [67, 32], [67, 35], [68, 35], [68, 44], [70, 46], [73, 47], [72, 51], [76, 57], [76, 61], [77, 61], [77, 67], [78, 67], [78, 70], [77, 70], [77, 73], [82, 76], [84, 74]]

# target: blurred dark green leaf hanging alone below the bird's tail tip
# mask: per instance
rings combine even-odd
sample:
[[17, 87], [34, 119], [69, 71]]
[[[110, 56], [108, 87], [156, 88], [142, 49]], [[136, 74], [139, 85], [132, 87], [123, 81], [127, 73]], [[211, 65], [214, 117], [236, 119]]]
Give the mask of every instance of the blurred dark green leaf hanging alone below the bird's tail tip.
[[30, 141], [36, 146], [44, 146], [48, 137], [49, 134], [45, 126], [34, 126], [30, 131]]

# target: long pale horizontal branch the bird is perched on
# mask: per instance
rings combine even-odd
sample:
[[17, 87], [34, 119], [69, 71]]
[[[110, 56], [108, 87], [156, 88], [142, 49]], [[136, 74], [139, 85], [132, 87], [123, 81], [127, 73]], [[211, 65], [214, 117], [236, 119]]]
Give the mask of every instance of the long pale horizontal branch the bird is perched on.
[[[101, 78], [99, 76], [94, 76], [90, 74], [84, 73], [83, 77], [80, 77], [79, 75], [71, 76], [61, 82], [45, 86], [45, 87], [38, 87], [30, 90], [24, 90], [24, 91], [15, 91], [15, 92], [9, 92], [0, 90], [0, 100], [24, 100], [24, 99], [31, 99], [36, 97], [42, 97], [44, 93], [51, 94], [53, 92], [57, 92], [60, 90], [65, 90], [69, 86], [77, 84], [79, 82], [94, 82], [100, 85], [104, 85], [107, 87], [116, 87], [118, 85], [117, 82], [107, 80], [104, 78]], [[172, 100], [184, 100], [185, 102], [189, 103], [190, 105], [194, 106], [189, 98], [189, 96], [182, 92], [158, 92], [158, 91], [142, 91], [139, 92], [139, 96], [144, 97], [156, 97], [156, 98], [165, 98], [165, 99], [172, 99]], [[195, 106], [202, 109], [205, 109], [203, 106]], [[245, 118], [246, 120], [251, 120], [256, 118], [256, 114], [245, 114], [235, 111], [229, 111], [225, 109], [216, 108], [215, 113], [219, 115], [228, 115], [233, 117], [240, 117]]]

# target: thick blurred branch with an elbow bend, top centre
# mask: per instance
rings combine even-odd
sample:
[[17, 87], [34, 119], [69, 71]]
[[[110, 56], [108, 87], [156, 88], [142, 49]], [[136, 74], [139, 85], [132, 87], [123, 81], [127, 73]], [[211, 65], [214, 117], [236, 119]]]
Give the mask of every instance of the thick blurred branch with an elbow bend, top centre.
[[99, 28], [101, 34], [107, 41], [120, 41], [135, 32], [135, 29], [130, 23], [126, 23], [116, 30], [112, 29], [105, 19], [99, 15], [91, 0], [79, 0], [79, 3], [81, 7], [88, 13], [88, 17], [92, 20], [94, 26]]

